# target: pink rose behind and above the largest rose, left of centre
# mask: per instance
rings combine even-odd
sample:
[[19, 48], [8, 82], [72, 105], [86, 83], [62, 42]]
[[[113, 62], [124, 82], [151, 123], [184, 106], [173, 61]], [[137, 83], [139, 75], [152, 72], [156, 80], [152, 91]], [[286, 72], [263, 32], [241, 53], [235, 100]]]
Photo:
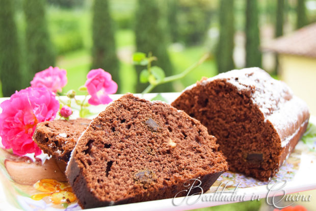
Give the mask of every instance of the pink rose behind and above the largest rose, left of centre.
[[35, 74], [31, 87], [46, 87], [52, 92], [61, 92], [67, 84], [66, 70], [59, 67], [48, 67], [48, 69]]

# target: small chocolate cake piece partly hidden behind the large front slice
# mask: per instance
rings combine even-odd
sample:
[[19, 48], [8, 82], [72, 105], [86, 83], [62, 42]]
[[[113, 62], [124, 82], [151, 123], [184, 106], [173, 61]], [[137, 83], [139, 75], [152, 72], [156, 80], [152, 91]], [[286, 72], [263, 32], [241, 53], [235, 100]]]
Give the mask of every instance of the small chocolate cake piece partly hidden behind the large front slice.
[[38, 123], [33, 134], [35, 143], [47, 154], [67, 163], [78, 138], [90, 119], [54, 120]]

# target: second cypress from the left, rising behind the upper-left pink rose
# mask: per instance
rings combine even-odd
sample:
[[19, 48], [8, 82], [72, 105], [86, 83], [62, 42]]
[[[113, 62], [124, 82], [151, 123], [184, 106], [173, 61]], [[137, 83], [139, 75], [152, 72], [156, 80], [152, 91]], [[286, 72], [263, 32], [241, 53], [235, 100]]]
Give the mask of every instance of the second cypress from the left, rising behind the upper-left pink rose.
[[55, 65], [55, 52], [49, 39], [44, 0], [24, 0], [25, 44], [27, 47], [28, 80], [34, 74]]

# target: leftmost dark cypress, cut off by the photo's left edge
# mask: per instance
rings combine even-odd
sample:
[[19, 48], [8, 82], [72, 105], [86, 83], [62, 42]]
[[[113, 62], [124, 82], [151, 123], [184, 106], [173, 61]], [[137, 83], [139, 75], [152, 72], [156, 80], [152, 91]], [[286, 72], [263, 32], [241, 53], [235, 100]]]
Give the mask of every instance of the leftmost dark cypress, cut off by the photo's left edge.
[[17, 28], [14, 21], [14, 2], [0, 0], [0, 79], [4, 97], [21, 87], [21, 60]]

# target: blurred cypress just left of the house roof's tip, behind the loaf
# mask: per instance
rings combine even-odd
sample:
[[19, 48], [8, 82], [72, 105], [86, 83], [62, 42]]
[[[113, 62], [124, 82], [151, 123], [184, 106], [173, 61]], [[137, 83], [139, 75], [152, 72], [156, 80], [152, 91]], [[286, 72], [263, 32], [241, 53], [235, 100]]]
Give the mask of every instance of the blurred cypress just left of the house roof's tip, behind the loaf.
[[246, 67], [261, 67], [259, 11], [257, 0], [247, 0], [246, 5]]

